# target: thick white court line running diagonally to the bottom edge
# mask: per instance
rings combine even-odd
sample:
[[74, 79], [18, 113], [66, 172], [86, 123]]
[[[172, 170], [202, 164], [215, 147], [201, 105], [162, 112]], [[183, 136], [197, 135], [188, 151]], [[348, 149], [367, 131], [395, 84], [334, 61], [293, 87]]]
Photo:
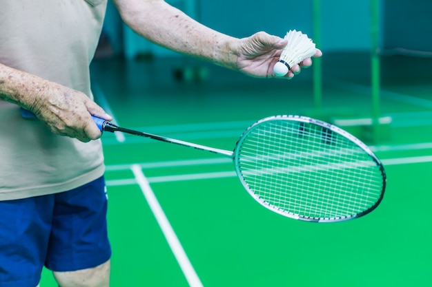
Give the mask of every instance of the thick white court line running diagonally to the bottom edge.
[[203, 287], [202, 282], [199, 280], [199, 277], [195, 272], [192, 264], [190, 264], [188, 256], [186, 255], [183, 246], [181, 246], [181, 243], [179, 242], [179, 239], [177, 238], [173, 227], [168, 221], [164, 210], [161, 208], [161, 205], [157, 201], [155, 193], [153, 193], [153, 190], [151, 189], [148, 180], [144, 176], [141, 167], [138, 164], [132, 164], [132, 166], [130, 166], [130, 169], [132, 170], [135, 176], [135, 180], [139, 184], [139, 187], [141, 187], [141, 191], [143, 192], [144, 197], [146, 198], [148, 205], [150, 206], [150, 209], [155, 215], [157, 223], [161, 227], [161, 230], [165, 235], [166, 241], [168, 242], [171, 251], [173, 251], [173, 254], [177, 259], [177, 262], [179, 263], [179, 266], [183, 271], [186, 280], [189, 283], [189, 286]]

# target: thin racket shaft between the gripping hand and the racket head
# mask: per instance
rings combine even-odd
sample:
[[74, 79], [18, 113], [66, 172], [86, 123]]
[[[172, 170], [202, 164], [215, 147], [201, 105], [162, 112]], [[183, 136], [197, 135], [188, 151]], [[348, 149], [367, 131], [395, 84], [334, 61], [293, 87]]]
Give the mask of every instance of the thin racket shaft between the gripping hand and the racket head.
[[202, 151], [210, 151], [212, 153], [222, 154], [223, 156], [228, 156], [230, 158], [233, 158], [233, 151], [226, 151], [224, 149], [215, 149], [213, 147], [206, 147], [204, 145], [197, 145], [193, 142], [185, 142], [184, 140], [176, 140], [175, 138], [167, 138], [165, 136], [157, 136], [155, 134], [148, 134], [148, 133], [145, 133], [143, 131], [135, 131], [133, 129], [126, 129], [124, 127], [119, 127], [117, 125], [114, 125], [114, 124], [108, 122], [108, 120], [104, 120], [102, 118], [97, 118], [95, 116], [92, 116], [92, 118], [95, 121], [97, 127], [99, 127], [99, 129], [101, 131], [110, 131], [110, 132], [121, 131], [123, 133], [132, 134], [134, 136], [143, 136], [144, 138], [152, 138], [153, 140], [159, 140], [161, 142], [173, 143], [175, 145], [181, 145], [184, 147], [193, 147], [194, 149], [199, 149]]

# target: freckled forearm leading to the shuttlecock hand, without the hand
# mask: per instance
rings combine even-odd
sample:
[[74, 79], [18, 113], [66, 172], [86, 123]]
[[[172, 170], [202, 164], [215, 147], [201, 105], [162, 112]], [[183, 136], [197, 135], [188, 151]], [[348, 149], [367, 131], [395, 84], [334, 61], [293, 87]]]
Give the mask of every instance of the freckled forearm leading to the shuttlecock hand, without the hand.
[[236, 68], [239, 39], [207, 28], [161, 0], [115, 0], [137, 34], [177, 52]]

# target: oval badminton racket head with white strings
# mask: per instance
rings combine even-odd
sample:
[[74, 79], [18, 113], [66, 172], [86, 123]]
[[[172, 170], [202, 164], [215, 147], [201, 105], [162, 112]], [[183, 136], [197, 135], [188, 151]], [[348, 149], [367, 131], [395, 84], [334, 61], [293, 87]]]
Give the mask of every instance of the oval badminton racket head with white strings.
[[233, 153], [237, 176], [267, 209], [308, 222], [352, 220], [382, 201], [380, 160], [348, 132], [305, 116], [251, 125]]

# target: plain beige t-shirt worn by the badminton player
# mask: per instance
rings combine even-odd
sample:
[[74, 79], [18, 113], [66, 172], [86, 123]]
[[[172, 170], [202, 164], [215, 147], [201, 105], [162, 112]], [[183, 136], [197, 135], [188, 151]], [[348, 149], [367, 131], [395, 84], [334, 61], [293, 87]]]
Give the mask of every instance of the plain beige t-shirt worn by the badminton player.
[[[0, 0], [0, 63], [86, 93], [106, 0]], [[101, 141], [56, 136], [0, 100], [0, 200], [58, 193], [104, 173]]]

